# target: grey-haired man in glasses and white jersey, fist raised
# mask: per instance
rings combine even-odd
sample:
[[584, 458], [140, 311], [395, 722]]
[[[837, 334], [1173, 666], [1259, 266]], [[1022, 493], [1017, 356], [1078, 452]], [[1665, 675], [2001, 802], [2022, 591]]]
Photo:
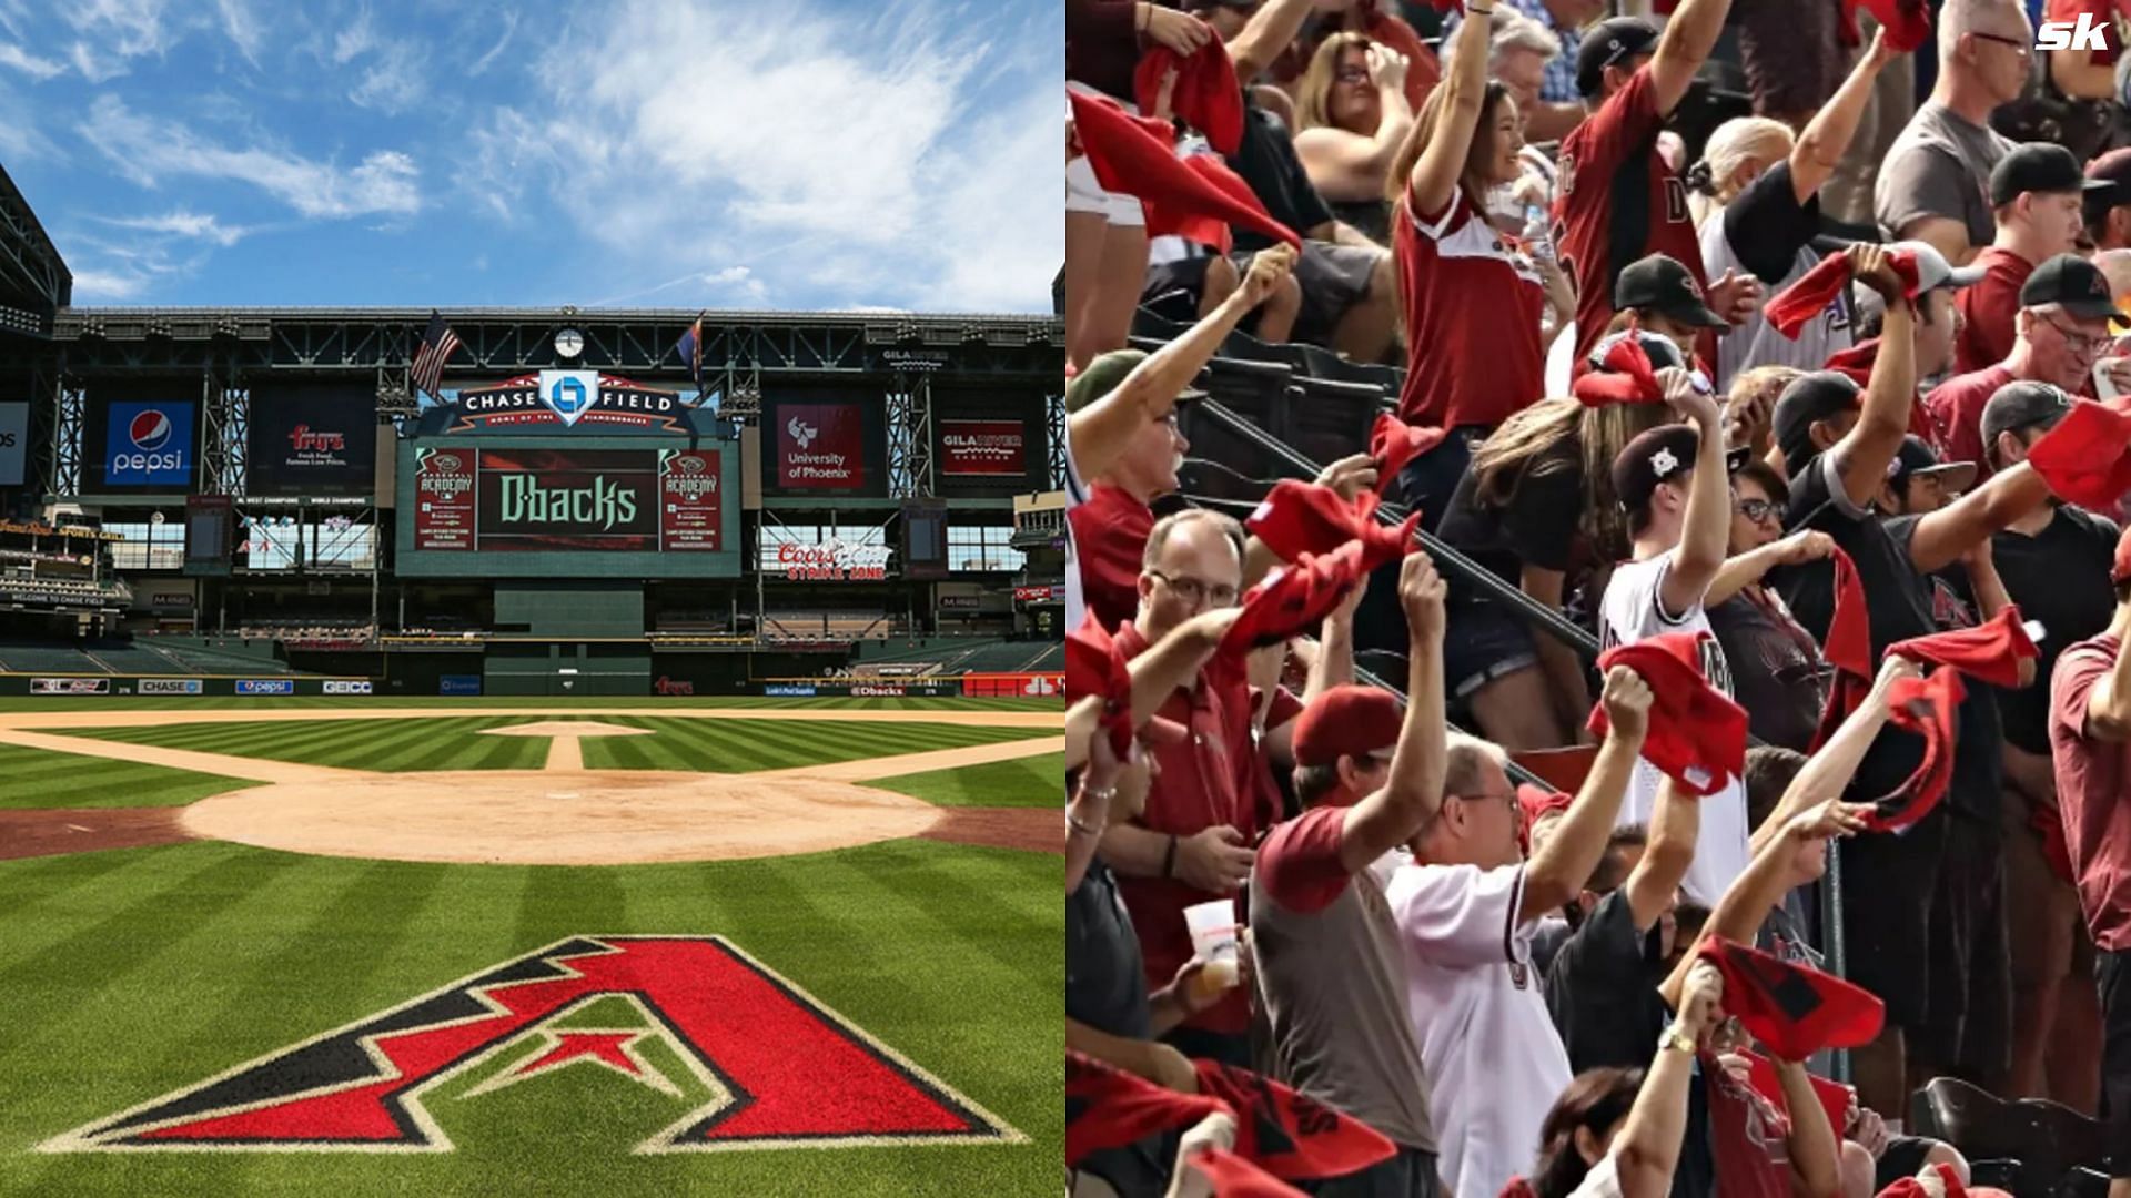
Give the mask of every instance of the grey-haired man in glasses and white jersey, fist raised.
[[1611, 729], [1583, 789], [1526, 863], [1522, 810], [1500, 746], [1453, 735], [1443, 804], [1413, 838], [1413, 865], [1385, 897], [1406, 949], [1406, 1013], [1428, 1072], [1443, 1181], [1455, 1198], [1496, 1198], [1528, 1175], [1547, 1108], [1568, 1085], [1568, 1053], [1532, 966], [1532, 934], [1605, 853], [1649, 727], [1649, 686], [1607, 674]]

